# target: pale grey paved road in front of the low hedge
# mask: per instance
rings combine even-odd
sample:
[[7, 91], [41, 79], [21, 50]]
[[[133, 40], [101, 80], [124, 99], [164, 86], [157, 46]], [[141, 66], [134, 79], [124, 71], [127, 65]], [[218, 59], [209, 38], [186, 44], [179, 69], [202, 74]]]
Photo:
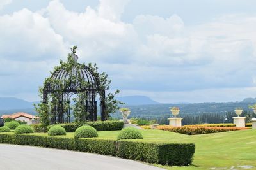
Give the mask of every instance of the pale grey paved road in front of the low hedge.
[[93, 153], [0, 144], [0, 169], [159, 169], [133, 160]]

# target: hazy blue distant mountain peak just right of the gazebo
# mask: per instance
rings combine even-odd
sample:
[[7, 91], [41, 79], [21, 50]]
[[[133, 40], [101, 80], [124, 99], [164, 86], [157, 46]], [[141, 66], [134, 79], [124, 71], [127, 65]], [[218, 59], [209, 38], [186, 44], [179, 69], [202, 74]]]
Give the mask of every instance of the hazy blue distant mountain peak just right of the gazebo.
[[116, 97], [118, 101], [122, 101], [125, 105], [146, 105], [146, 104], [161, 104], [159, 102], [153, 101], [147, 96], [124, 96]]

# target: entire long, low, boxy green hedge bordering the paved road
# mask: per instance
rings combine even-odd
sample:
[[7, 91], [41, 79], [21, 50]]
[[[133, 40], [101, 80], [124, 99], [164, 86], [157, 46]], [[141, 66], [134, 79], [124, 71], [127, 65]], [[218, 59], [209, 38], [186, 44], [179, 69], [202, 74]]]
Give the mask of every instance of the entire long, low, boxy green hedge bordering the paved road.
[[145, 143], [97, 138], [74, 139], [38, 134], [0, 133], [0, 143], [77, 150], [170, 166], [188, 166], [195, 153], [193, 143]]

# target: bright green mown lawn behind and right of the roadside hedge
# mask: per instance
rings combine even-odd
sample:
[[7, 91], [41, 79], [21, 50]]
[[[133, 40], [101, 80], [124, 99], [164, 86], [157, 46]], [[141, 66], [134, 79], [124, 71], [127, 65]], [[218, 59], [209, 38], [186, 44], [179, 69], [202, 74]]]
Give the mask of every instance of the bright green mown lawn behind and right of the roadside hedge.
[[[154, 143], [195, 143], [193, 166], [168, 167], [166, 169], [242, 169], [238, 166], [253, 166], [256, 169], [256, 129], [188, 136], [161, 130], [140, 130], [144, 139], [136, 141]], [[119, 131], [102, 131], [101, 139], [116, 139]], [[40, 134], [42, 135], [42, 134]], [[47, 134], [45, 134], [47, 135]], [[74, 133], [68, 133], [73, 138]], [[156, 165], [158, 166], [158, 165]]]

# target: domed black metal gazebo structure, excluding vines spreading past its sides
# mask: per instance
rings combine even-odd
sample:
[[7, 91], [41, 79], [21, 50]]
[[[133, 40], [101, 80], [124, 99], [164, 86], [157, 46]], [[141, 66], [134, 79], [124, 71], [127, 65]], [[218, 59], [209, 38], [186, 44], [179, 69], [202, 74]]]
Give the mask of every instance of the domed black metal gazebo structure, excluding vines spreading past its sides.
[[[97, 120], [97, 94], [100, 96], [101, 120], [106, 120], [105, 113], [105, 89], [100, 87], [99, 76], [90, 67], [77, 62], [76, 48], [68, 55], [69, 64], [61, 64], [52, 73], [51, 82], [43, 87], [43, 102], [47, 103], [50, 96], [54, 96], [54, 106], [51, 113], [51, 123], [70, 122], [70, 99], [76, 94], [80, 97], [79, 102], [88, 115], [81, 117], [82, 121]], [[68, 104], [68, 108], [65, 108]]]

